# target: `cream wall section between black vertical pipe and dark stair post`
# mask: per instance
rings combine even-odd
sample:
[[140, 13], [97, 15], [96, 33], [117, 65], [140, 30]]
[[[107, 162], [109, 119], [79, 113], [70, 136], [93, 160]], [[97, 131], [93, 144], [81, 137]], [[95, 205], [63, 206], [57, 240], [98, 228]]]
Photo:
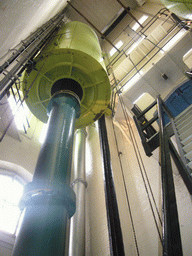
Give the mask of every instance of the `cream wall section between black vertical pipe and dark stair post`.
[[[126, 255], [130, 256], [137, 255], [136, 245], [134, 242], [134, 233], [130, 220], [130, 211], [128, 209], [125, 192], [126, 189], [140, 255], [160, 255], [159, 239], [155, 228], [155, 223], [152, 218], [138, 163], [134, 155], [133, 146], [130, 141], [128, 141], [127, 138], [123, 135], [119, 127], [115, 126], [119, 152], [121, 152], [120, 158], [123, 168], [122, 174], [112, 127], [112, 120], [111, 118], [107, 118], [106, 121], [117, 200], [119, 204], [121, 226], [123, 231], [125, 253]], [[142, 156], [144, 155], [142, 148], [141, 154]], [[145, 165], [148, 171], [150, 182], [152, 183], [157, 205], [159, 207], [159, 165], [154, 158], [145, 159]], [[123, 182], [123, 176], [125, 183]]]

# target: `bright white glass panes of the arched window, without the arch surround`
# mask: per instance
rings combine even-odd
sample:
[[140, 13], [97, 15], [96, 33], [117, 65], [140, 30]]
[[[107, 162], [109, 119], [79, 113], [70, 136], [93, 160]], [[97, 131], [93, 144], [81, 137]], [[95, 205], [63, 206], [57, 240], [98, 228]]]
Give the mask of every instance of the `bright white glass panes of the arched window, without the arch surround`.
[[0, 175], [0, 230], [15, 234], [21, 215], [18, 207], [23, 184], [14, 176]]

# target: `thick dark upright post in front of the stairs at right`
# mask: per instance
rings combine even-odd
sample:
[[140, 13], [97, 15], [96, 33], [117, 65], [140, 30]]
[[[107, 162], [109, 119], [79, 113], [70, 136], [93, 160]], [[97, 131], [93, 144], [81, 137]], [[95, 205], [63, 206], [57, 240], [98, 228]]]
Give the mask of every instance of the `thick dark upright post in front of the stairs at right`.
[[157, 99], [157, 105], [163, 197], [163, 256], [182, 256], [179, 218], [169, 152], [169, 136], [163, 127], [162, 100], [160, 97]]

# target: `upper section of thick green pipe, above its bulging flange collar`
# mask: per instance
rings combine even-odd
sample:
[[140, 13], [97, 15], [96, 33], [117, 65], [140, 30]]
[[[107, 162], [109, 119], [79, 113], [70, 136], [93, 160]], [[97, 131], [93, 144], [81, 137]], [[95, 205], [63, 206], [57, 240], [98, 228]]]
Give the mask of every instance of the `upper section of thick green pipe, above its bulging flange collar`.
[[74, 96], [60, 93], [49, 103], [51, 109], [46, 140], [37, 161], [34, 181], [70, 183], [73, 136], [80, 106]]

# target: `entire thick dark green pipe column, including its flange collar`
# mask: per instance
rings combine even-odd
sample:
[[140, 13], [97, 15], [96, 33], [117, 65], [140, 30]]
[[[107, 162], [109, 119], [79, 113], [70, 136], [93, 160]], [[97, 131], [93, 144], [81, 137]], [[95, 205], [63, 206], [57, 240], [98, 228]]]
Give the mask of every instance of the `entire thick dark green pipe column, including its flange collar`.
[[49, 126], [33, 181], [22, 199], [23, 221], [13, 256], [63, 256], [67, 218], [75, 212], [75, 194], [69, 186], [78, 96], [56, 92], [49, 104]]

